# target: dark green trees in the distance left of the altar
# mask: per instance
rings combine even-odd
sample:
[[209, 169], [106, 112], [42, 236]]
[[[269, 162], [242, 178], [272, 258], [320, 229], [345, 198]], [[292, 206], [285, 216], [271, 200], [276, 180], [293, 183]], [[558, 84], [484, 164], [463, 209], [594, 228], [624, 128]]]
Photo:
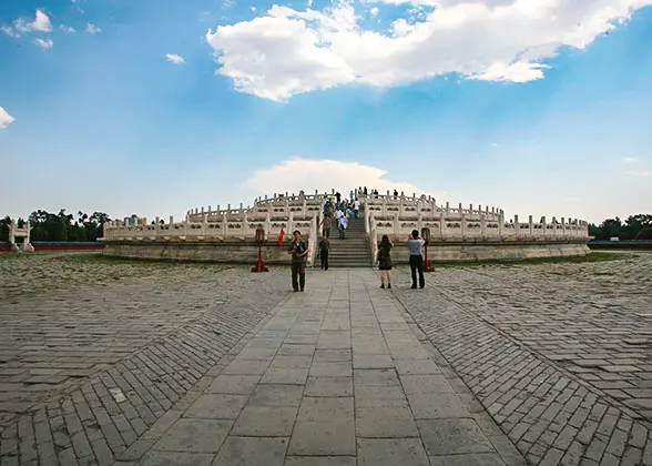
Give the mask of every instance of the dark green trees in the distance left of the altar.
[[[9, 241], [9, 225], [11, 217], [7, 215], [0, 220], [0, 241]], [[31, 241], [96, 241], [102, 237], [102, 226], [110, 221], [103, 212], [93, 212], [91, 215], [79, 211], [75, 215], [65, 213], [65, 209], [58, 214], [38, 210], [32, 212], [29, 221], [31, 226]], [[19, 227], [24, 226], [26, 220], [16, 221]]]

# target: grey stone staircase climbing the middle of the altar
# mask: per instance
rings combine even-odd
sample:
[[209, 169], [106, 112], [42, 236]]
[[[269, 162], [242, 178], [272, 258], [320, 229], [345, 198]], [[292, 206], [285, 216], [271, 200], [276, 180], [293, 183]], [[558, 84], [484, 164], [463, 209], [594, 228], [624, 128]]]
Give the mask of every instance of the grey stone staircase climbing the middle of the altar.
[[[370, 250], [367, 234], [365, 233], [365, 217], [360, 211], [359, 219], [352, 219], [348, 222], [346, 237], [339, 240], [339, 230], [335, 226], [330, 230], [330, 254], [328, 255], [328, 267], [349, 269], [349, 267], [369, 267]], [[315, 266], [319, 267], [319, 257], [315, 261]]]

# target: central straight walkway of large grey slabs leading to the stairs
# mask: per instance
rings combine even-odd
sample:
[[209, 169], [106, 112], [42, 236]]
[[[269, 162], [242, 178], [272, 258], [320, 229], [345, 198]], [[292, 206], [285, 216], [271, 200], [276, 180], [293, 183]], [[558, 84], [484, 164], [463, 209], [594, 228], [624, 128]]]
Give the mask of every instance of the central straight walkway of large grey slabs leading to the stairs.
[[315, 272], [115, 464], [526, 464], [441, 363], [376, 273]]

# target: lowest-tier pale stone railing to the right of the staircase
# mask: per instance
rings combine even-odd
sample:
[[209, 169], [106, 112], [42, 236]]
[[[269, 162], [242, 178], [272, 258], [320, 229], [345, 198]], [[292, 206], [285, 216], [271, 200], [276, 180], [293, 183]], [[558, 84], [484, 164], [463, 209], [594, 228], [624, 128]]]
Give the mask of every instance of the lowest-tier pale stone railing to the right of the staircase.
[[532, 215], [527, 222], [520, 222], [518, 215], [505, 221], [499, 214], [498, 220], [480, 216], [479, 219], [467, 216], [462, 213], [457, 216], [452, 213], [450, 216], [440, 211], [435, 217], [419, 215], [417, 217], [405, 217], [395, 215], [376, 215], [374, 212], [365, 213], [368, 222], [367, 231], [370, 232], [371, 239], [379, 239], [384, 234], [393, 239], [403, 239], [410, 234], [412, 230], [421, 231], [422, 227], [430, 229], [431, 241], [463, 241], [463, 240], [524, 240], [524, 241], [551, 241], [551, 240], [589, 240], [589, 225], [581, 220], [556, 217], [548, 223], [542, 217], [539, 223], [532, 221]]

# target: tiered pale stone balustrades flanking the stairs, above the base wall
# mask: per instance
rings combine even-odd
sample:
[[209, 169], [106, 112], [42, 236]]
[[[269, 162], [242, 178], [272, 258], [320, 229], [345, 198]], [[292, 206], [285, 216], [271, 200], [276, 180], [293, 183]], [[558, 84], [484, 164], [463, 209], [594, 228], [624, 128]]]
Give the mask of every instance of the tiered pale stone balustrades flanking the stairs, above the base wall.
[[[547, 241], [550, 237], [587, 239], [588, 223], [578, 219], [556, 217], [548, 223], [541, 217], [538, 223], [529, 216], [527, 223], [519, 222], [518, 215], [511, 220], [505, 219], [505, 212], [498, 207], [480, 205], [468, 209], [462, 204], [451, 206], [437, 205], [431, 196], [406, 196], [403, 193], [395, 196], [386, 194], [363, 194], [356, 190], [356, 195], [364, 206], [366, 230], [370, 237], [389, 234], [404, 236], [412, 230], [421, 230], [427, 226], [431, 230], [434, 240], [463, 240], [463, 239], [523, 239], [530, 241]], [[257, 197], [254, 206], [238, 209], [216, 209], [208, 206], [190, 210], [184, 221], [174, 222], [170, 216], [167, 224], [156, 217], [151, 225], [124, 225], [122, 222], [108, 222], [104, 224], [105, 241], [121, 240], [236, 240], [254, 239], [257, 229], [265, 230], [266, 239], [277, 237], [281, 230], [286, 233], [298, 229], [304, 234], [316, 234], [316, 226], [320, 221], [322, 203], [326, 196], [333, 193], [305, 194], [274, 194], [273, 197]]]

